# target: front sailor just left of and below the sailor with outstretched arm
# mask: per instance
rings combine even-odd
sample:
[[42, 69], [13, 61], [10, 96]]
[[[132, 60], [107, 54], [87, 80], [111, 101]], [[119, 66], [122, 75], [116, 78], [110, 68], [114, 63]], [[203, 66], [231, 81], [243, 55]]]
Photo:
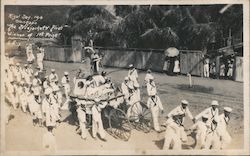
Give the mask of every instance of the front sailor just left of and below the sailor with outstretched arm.
[[196, 146], [195, 149], [203, 149], [205, 147], [207, 130], [209, 128], [207, 124], [209, 116], [207, 114], [202, 115], [202, 121], [198, 121], [190, 130], [196, 131]]

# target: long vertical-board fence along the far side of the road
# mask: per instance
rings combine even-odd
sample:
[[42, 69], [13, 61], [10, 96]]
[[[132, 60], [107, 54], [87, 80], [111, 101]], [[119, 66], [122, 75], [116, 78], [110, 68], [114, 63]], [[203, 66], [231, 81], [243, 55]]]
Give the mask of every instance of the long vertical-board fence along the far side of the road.
[[[95, 49], [104, 54], [102, 63], [108, 67], [128, 68], [134, 64], [137, 69], [162, 72], [165, 63], [164, 50], [155, 49], [119, 49], [100, 48]], [[45, 59], [60, 62], [81, 62], [84, 56], [82, 49], [67, 47], [46, 47]], [[180, 70], [182, 74], [202, 76], [203, 61], [201, 51], [180, 50]]]

